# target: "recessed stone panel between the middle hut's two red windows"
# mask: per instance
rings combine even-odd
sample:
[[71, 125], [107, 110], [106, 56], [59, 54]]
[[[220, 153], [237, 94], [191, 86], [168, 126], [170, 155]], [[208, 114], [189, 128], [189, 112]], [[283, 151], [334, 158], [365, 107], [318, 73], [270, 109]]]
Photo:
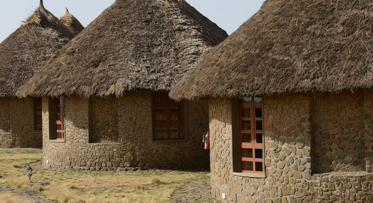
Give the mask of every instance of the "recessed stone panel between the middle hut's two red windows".
[[115, 97], [89, 100], [89, 142], [117, 143], [118, 107]]

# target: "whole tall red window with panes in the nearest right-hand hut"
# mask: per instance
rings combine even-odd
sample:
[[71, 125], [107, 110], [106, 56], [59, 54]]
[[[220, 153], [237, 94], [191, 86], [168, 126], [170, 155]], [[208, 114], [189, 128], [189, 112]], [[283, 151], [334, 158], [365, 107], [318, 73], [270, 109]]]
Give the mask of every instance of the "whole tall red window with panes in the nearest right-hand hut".
[[239, 102], [240, 167], [243, 173], [263, 174], [263, 111], [261, 97]]

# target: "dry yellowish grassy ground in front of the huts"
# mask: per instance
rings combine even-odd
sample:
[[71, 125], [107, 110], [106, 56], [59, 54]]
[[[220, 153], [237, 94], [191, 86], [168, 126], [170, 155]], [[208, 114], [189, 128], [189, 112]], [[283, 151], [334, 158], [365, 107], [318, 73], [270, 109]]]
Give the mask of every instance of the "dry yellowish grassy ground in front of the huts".
[[[10, 196], [9, 203], [217, 203], [208, 172], [57, 172], [43, 169], [42, 157], [40, 149], [0, 149], [0, 198]], [[32, 180], [49, 186], [29, 186], [24, 170], [29, 163]]]

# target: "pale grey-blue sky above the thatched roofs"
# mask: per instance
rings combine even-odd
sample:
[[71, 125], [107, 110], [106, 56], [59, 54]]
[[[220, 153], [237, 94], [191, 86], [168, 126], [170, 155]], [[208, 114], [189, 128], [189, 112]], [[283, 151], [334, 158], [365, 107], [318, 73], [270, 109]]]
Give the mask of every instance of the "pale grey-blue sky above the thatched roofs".
[[[44, 6], [57, 17], [65, 13], [67, 7], [71, 14], [87, 26], [115, 0], [44, 0]], [[211, 21], [231, 34], [249, 17], [255, 14], [264, 0], [187, 0]], [[0, 7], [0, 42], [22, 24], [39, 5], [39, 0], [10, 0]]]

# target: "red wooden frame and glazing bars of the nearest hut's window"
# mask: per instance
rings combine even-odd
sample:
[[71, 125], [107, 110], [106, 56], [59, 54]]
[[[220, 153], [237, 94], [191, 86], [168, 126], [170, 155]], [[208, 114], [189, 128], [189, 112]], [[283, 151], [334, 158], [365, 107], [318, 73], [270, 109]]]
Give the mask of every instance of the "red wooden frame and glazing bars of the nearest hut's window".
[[[257, 97], [256, 97], [257, 98]], [[262, 109], [262, 117], [256, 117], [256, 109]], [[243, 117], [242, 116], [242, 109], [250, 109], [250, 117]], [[264, 112], [263, 112], [263, 101], [262, 102], [254, 102], [254, 97], [251, 97], [251, 102], [238, 102], [238, 132], [239, 132], [239, 162], [240, 162], [240, 170], [242, 173], [246, 174], [264, 174], [264, 135], [263, 135], [263, 128], [264, 128]], [[249, 121], [250, 122], [250, 130], [242, 130], [242, 121]], [[256, 121], [262, 121], [262, 130], [257, 130]], [[249, 133], [250, 142], [244, 143], [243, 142], [243, 134]], [[256, 134], [262, 134], [262, 143], [257, 143]], [[252, 150], [252, 158], [242, 157], [242, 149], [251, 149]], [[262, 158], [255, 158], [255, 149], [262, 150]], [[242, 161], [250, 161], [252, 162], [252, 171], [243, 170], [242, 168]], [[256, 163], [262, 164], [263, 171], [256, 171]]]

